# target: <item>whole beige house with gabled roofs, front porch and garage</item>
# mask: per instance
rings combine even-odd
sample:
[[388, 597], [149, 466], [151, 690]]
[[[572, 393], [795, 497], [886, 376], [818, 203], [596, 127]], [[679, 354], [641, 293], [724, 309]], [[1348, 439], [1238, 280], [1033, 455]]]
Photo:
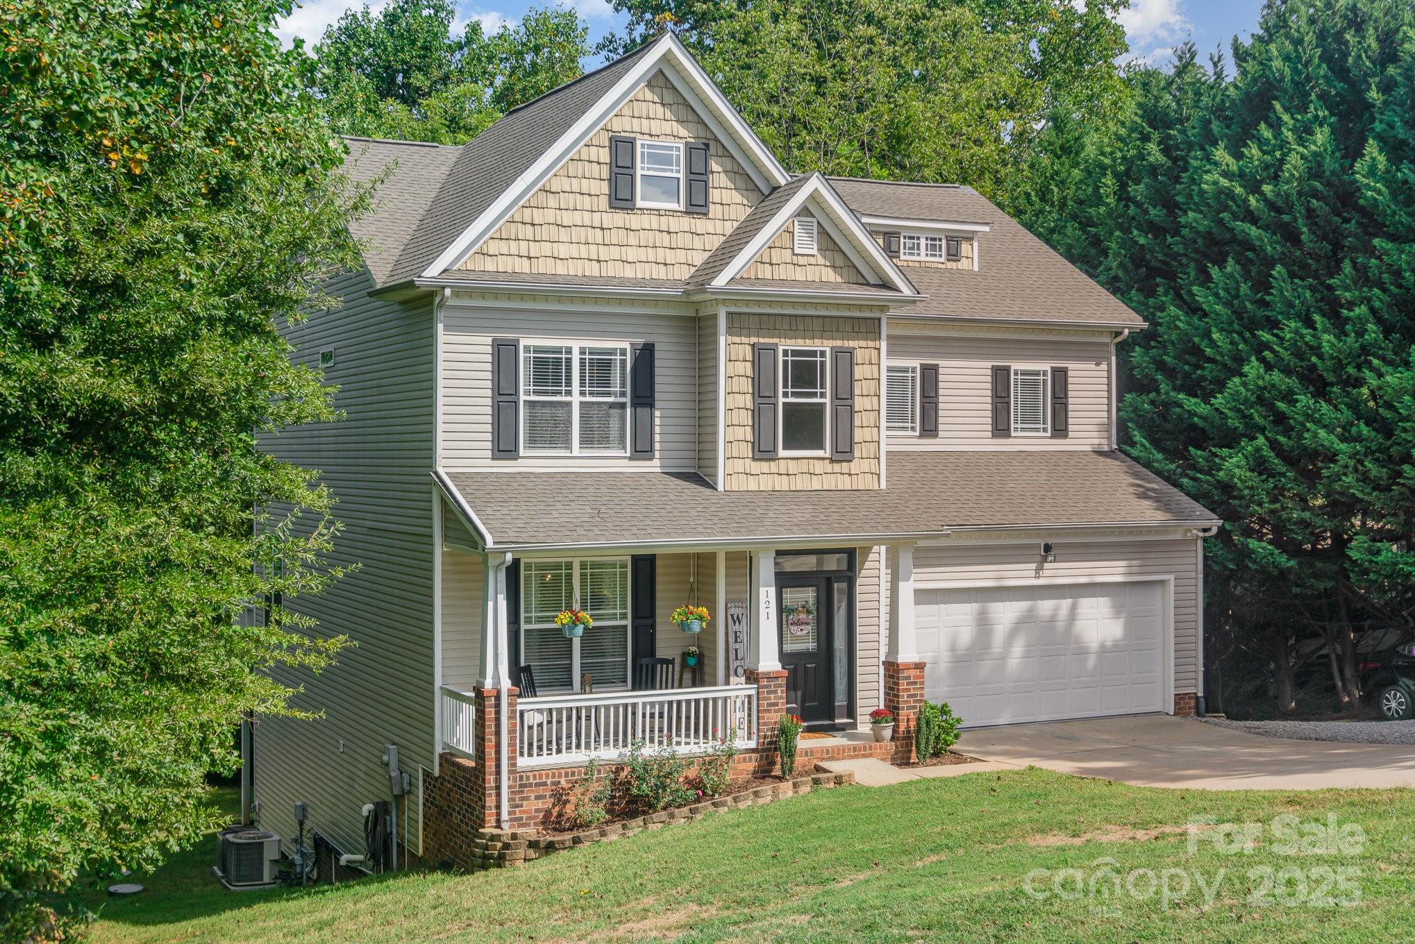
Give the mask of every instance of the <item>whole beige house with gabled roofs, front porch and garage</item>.
[[359, 569], [299, 607], [358, 645], [256, 726], [262, 825], [362, 852], [392, 800], [457, 860], [640, 739], [1194, 710], [1217, 522], [1115, 450], [1145, 326], [974, 190], [792, 177], [672, 35], [348, 166], [365, 267], [287, 331], [345, 418], [266, 447], [338, 498]]

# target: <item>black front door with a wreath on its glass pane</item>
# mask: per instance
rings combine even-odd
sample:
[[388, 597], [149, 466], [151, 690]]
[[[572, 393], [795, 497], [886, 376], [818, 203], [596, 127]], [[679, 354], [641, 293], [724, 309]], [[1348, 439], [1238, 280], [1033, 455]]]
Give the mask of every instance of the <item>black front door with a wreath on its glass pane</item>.
[[781, 667], [787, 671], [787, 710], [807, 725], [835, 722], [833, 638], [826, 577], [777, 575], [781, 614]]

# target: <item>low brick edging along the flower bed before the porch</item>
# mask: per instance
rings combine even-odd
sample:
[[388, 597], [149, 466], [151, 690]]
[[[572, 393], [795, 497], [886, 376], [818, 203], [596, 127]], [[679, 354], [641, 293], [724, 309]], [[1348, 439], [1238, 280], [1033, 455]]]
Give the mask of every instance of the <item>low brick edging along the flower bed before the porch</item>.
[[730, 797], [703, 800], [688, 807], [661, 810], [644, 817], [621, 819], [553, 836], [539, 835], [535, 831], [526, 829], [478, 829], [471, 842], [470, 859], [454, 865], [470, 870], [515, 868], [525, 862], [548, 856], [552, 852], [560, 852], [562, 849], [590, 845], [591, 842], [608, 842], [640, 831], [661, 829], [674, 822], [702, 819], [709, 812], [764, 805], [775, 800], [807, 794], [812, 790], [828, 790], [849, 783], [855, 783], [853, 773], [819, 773], [775, 784], [763, 784], [732, 794]]

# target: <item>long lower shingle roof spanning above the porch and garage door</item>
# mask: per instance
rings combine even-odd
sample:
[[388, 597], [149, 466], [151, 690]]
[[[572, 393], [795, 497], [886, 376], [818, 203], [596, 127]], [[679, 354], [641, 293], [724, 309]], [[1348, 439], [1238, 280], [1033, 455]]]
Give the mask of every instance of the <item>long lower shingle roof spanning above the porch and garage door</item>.
[[[453, 471], [497, 548], [1217, 524], [1118, 453], [890, 453], [879, 491], [716, 491], [696, 473]], [[633, 510], [627, 514], [625, 510]]]

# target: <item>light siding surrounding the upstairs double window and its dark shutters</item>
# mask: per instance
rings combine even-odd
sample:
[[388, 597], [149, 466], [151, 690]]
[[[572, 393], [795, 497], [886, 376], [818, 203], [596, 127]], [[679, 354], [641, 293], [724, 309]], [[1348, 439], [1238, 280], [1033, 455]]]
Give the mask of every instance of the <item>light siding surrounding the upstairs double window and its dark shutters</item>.
[[[627, 456], [522, 456], [491, 459], [491, 341], [652, 343], [652, 460]], [[443, 464], [447, 468], [698, 467], [698, 321], [633, 304], [565, 309], [443, 307]]]

